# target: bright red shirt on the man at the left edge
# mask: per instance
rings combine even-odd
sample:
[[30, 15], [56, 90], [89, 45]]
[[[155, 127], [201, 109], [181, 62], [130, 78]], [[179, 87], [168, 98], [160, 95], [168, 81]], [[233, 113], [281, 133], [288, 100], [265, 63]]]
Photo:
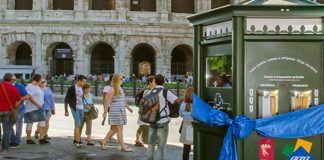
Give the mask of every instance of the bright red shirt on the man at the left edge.
[[[10, 104], [12, 107], [15, 107], [17, 101], [20, 101], [21, 96], [18, 89], [11, 83], [2, 81], [4, 88], [6, 89]], [[12, 109], [8, 103], [5, 93], [3, 92], [3, 88], [0, 84], [0, 112], [9, 112]]]

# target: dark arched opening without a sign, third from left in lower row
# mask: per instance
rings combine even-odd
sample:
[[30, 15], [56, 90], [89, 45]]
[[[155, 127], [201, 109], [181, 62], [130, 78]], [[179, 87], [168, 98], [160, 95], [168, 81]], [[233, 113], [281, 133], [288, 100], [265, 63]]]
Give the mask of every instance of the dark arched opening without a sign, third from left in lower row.
[[114, 74], [114, 49], [106, 44], [97, 44], [91, 54], [91, 74]]

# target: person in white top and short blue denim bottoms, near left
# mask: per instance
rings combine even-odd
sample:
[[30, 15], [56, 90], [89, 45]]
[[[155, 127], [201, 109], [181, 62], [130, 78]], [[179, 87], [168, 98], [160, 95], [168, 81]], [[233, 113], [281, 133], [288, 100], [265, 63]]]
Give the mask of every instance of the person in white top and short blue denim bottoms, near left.
[[46, 117], [45, 117], [45, 110], [43, 108], [44, 104], [44, 92], [39, 87], [42, 83], [42, 76], [40, 74], [35, 74], [32, 77], [32, 82], [26, 86], [27, 93], [37, 102], [34, 104], [31, 100], [27, 100], [25, 107], [25, 123], [26, 126], [26, 133], [27, 133], [27, 144], [36, 144], [31, 137], [33, 123], [39, 122], [39, 144], [47, 144], [49, 141], [45, 139], [45, 127], [46, 127]]

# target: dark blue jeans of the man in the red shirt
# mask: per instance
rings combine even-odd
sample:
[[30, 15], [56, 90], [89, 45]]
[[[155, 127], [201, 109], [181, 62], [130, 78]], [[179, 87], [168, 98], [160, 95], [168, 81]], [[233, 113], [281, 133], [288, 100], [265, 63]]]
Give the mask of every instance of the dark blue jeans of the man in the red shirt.
[[0, 112], [0, 122], [2, 123], [2, 150], [8, 150], [10, 147], [11, 129], [13, 123], [10, 121], [9, 112]]

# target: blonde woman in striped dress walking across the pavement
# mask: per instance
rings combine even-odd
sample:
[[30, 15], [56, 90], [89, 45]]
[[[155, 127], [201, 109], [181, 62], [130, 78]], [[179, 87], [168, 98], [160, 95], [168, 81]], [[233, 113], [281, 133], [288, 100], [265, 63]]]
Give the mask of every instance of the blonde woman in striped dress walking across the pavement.
[[120, 144], [120, 150], [123, 152], [132, 152], [133, 150], [127, 147], [124, 143], [123, 125], [127, 124], [126, 110], [133, 112], [125, 102], [125, 94], [120, 87], [122, 84], [122, 77], [118, 74], [114, 75], [111, 81], [112, 88], [107, 94], [107, 102], [104, 106], [103, 118], [106, 119], [107, 113], [109, 113], [108, 123], [111, 125], [111, 129], [107, 133], [106, 137], [100, 141], [101, 148], [107, 149], [106, 142], [117, 133], [117, 139]]

